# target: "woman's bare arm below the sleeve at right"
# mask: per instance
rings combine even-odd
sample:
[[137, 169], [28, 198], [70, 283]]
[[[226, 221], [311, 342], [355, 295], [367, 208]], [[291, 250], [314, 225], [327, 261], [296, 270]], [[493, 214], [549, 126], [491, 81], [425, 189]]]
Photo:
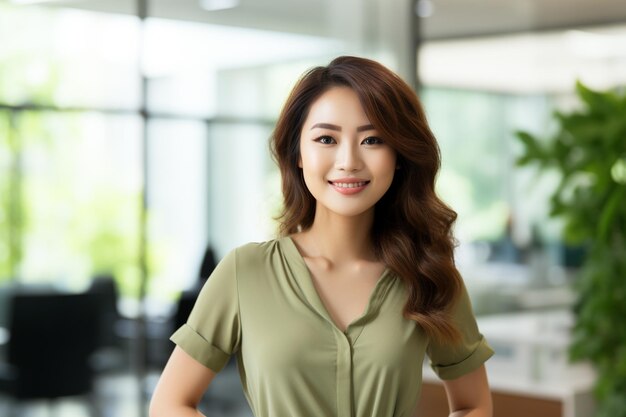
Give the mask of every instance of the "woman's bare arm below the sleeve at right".
[[485, 366], [457, 379], [443, 381], [450, 417], [492, 417], [493, 405]]

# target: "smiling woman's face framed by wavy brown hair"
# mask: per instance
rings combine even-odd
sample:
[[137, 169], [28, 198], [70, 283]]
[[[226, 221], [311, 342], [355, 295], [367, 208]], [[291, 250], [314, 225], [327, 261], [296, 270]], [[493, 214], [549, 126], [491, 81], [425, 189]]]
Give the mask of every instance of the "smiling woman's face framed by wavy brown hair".
[[333, 87], [313, 102], [300, 132], [300, 159], [316, 210], [356, 216], [387, 192], [396, 152], [370, 124], [357, 94]]

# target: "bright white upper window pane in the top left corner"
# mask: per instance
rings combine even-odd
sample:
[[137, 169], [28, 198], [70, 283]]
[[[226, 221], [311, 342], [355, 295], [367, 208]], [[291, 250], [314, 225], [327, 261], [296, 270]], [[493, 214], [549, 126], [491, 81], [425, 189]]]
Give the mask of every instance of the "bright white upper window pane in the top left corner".
[[136, 109], [139, 20], [0, 4], [0, 102]]

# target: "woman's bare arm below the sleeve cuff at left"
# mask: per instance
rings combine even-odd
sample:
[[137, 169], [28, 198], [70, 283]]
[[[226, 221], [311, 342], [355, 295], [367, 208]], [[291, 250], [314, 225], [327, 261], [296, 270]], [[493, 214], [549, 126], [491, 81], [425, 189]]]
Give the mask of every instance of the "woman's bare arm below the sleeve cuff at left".
[[150, 401], [150, 417], [198, 417], [198, 403], [215, 372], [178, 346], [167, 361]]

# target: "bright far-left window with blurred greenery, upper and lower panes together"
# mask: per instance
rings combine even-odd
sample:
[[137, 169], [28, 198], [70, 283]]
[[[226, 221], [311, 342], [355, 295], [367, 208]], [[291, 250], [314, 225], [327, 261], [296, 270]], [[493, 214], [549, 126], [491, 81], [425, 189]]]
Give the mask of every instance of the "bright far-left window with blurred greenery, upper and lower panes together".
[[0, 5], [0, 281], [110, 272], [137, 294], [137, 35], [134, 17]]

